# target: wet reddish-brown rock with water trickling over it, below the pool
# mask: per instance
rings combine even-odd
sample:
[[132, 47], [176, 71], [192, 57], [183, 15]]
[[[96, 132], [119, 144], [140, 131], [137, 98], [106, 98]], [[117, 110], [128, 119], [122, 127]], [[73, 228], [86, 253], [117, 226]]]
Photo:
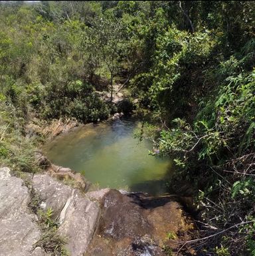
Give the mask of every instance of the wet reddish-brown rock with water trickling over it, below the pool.
[[193, 224], [175, 198], [122, 194], [110, 190], [103, 199], [102, 216], [86, 256], [159, 256], [163, 245], [175, 248], [189, 239]]

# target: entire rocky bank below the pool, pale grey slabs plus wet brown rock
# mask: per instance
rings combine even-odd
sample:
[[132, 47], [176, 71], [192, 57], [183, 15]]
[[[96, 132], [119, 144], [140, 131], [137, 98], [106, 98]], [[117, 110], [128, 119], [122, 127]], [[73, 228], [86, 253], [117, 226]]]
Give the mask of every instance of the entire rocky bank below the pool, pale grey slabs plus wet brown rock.
[[[53, 210], [57, 232], [72, 256], [166, 255], [163, 248], [174, 250], [177, 241], [190, 239], [193, 233], [191, 219], [171, 196], [110, 189], [86, 192], [49, 172], [29, 179], [26, 184], [39, 195], [39, 207]], [[9, 168], [0, 168], [0, 256], [50, 255], [36, 247], [42, 233], [29, 208], [31, 188], [11, 176]]]

